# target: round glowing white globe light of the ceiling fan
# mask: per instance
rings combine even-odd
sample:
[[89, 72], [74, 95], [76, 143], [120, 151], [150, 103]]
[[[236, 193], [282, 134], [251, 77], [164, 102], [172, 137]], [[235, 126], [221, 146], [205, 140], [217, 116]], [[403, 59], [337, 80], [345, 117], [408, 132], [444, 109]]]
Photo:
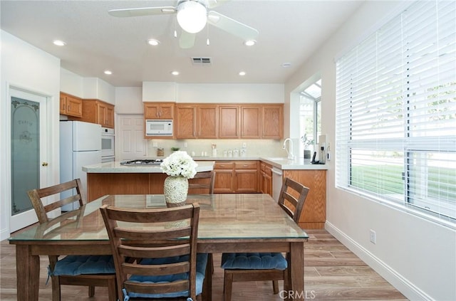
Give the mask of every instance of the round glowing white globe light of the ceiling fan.
[[207, 9], [197, 1], [185, 1], [177, 6], [177, 23], [187, 33], [199, 33], [207, 23]]

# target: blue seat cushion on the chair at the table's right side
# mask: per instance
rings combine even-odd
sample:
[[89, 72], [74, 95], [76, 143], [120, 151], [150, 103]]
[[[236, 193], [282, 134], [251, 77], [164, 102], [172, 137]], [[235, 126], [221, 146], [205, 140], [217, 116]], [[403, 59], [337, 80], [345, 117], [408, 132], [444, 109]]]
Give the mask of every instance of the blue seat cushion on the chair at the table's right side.
[[228, 270], [285, 270], [281, 253], [223, 253], [222, 268]]

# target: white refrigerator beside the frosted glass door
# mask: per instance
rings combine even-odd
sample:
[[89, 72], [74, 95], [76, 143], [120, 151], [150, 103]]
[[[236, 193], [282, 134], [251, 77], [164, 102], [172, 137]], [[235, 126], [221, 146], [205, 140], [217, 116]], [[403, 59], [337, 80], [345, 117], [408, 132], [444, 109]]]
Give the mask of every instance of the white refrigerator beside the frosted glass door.
[[[101, 125], [81, 121], [60, 122], [60, 181], [81, 179], [83, 194], [87, 197], [87, 175], [82, 167], [101, 163]], [[76, 193], [76, 191], [74, 191]], [[69, 193], [62, 194], [65, 198]], [[63, 211], [78, 208], [78, 202], [73, 206], [62, 207]]]

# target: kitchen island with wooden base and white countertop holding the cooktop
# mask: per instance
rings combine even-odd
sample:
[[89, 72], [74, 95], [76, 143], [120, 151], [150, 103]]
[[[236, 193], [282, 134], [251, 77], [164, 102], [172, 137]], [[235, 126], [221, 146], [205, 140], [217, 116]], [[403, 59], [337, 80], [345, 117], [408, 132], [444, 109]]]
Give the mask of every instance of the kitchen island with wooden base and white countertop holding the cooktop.
[[[87, 165], [87, 200], [93, 201], [106, 194], [163, 194], [167, 174], [160, 165], [123, 165], [105, 162]], [[214, 161], [197, 161], [197, 172], [211, 171]]]

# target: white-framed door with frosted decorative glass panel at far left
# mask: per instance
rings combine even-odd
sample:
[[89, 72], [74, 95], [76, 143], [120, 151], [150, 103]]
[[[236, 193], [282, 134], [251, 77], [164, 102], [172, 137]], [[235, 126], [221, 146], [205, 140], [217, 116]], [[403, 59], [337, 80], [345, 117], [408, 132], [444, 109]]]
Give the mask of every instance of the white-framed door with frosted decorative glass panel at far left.
[[46, 97], [9, 89], [11, 101], [11, 210], [10, 232], [36, 223], [27, 191], [47, 186]]

